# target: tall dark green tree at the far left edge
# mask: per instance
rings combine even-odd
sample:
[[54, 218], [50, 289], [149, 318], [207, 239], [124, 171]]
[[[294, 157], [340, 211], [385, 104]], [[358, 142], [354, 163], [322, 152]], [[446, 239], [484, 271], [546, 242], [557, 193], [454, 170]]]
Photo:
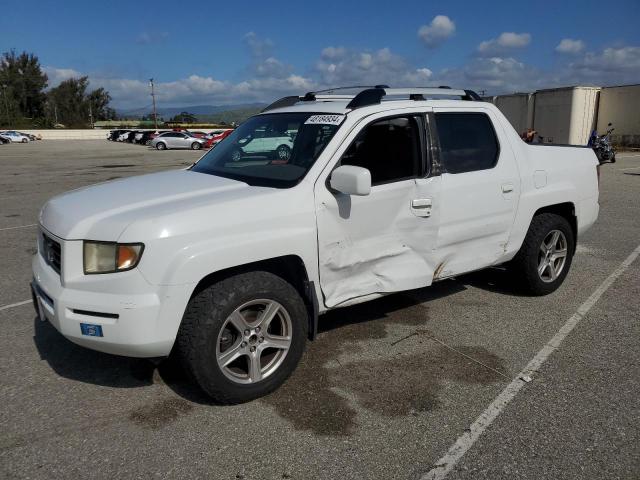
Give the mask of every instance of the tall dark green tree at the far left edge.
[[44, 115], [47, 75], [40, 61], [32, 53], [5, 52], [0, 58], [0, 112], [4, 123], [20, 117], [40, 118]]

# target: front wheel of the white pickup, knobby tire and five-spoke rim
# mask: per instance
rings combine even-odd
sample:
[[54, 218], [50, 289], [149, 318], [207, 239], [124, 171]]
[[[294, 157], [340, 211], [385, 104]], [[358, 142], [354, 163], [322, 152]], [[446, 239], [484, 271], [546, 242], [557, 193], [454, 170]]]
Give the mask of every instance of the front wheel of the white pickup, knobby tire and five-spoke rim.
[[[275, 313], [259, 330], [265, 311]], [[272, 392], [291, 375], [304, 352], [307, 326], [305, 304], [289, 283], [268, 272], [243, 273], [191, 298], [176, 350], [213, 400], [243, 403]]]

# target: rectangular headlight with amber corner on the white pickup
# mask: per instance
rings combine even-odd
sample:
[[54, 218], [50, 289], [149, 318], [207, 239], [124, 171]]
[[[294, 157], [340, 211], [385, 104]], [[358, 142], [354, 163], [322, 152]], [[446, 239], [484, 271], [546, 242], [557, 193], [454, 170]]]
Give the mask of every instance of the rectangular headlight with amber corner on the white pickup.
[[113, 273], [131, 270], [142, 256], [142, 243], [84, 241], [84, 273]]

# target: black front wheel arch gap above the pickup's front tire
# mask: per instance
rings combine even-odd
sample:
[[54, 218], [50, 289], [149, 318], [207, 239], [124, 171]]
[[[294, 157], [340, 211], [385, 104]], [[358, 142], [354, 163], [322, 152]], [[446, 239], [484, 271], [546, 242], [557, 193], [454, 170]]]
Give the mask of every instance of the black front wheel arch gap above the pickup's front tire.
[[304, 300], [308, 312], [309, 339], [314, 340], [318, 331], [319, 304], [313, 281], [309, 280], [307, 268], [297, 255], [258, 260], [209, 273], [194, 288], [191, 298], [221, 280], [241, 273], [263, 271], [276, 275], [291, 284]]

